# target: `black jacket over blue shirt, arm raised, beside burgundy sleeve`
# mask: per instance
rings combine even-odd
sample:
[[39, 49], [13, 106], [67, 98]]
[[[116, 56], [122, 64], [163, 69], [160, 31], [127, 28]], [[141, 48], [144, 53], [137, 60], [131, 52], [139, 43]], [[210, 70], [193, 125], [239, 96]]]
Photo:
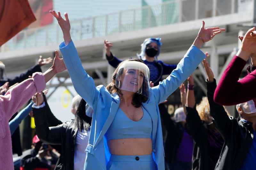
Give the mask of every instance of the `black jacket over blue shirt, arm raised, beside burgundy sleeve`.
[[228, 117], [224, 107], [213, 101], [216, 81], [206, 82], [206, 84], [210, 114], [214, 118], [213, 123], [216, 129], [218, 129], [225, 141], [215, 169], [239, 170], [252, 145], [252, 123], [245, 123], [241, 120], [238, 121], [232, 117]]

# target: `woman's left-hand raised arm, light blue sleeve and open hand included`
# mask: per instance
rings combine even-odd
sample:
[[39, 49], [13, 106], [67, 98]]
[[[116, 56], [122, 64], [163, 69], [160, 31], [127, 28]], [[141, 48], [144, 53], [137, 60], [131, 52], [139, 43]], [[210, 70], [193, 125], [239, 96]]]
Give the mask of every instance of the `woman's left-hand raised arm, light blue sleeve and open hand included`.
[[92, 77], [85, 72], [76, 47], [71, 40], [68, 14], [64, 13], [65, 19], [63, 19], [60, 16], [60, 12], [58, 12], [58, 15], [55, 11], [50, 12], [58, 20], [63, 32], [64, 42], [60, 44], [59, 48], [75, 90], [92, 107], [94, 102], [97, 101], [100, 92], [96, 89]]

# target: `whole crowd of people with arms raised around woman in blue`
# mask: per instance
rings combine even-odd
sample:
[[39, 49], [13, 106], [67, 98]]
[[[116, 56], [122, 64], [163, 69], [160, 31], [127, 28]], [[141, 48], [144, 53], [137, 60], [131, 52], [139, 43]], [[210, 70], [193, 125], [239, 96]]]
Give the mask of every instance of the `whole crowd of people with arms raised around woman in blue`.
[[[256, 165], [256, 31], [239, 37], [242, 47], [216, 83], [200, 48], [225, 29], [205, 28], [204, 21], [195, 41], [178, 64], [157, 59], [160, 38], [148, 38], [136, 58], [119, 60], [105, 40], [106, 59], [116, 68], [111, 82], [95, 87], [84, 70], [70, 35], [68, 14], [50, 11], [64, 41], [52, 63], [39, 58], [38, 64], [14, 79], [5, 77], [0, 63], [0, 167], [14, 169], [11, 135], [29, 114], [35, 119], [32, 148], [21, 155], [20, 170], [213, 170], [254, 169]], [[218, 35], [221, 36], [221, 35]], [[239, 80], [251, 56], [248, 75]], [[203, 63], [207, 97], [196, 104], [196, 67]], [[61, 122], [52, 113], [45, 84], [68, 70], [78, 93], [72, 100], [74, 120]], [[163, 75], [169, 75], [162, 79]], [[183, 84], [188, 82], [187, 87]], [[165, 102], [177, 88], [182, 107], [171, 117]], [[21, 93], [22, 92], [22, 93]], [[31, 100], [31, 101], [30, 101]], [[29, 102], [28, 102], [29, 101]], [[16, 113], [24, 104], [28, 105]], [[230, 116], [223, 105], [236, 105], [239, 117]], [[15, 114], [16, 113], [16, 114]], [[167, 136], [163, 138], [163, 130]], [[19, 139], [20, 140], [20, 139]]]

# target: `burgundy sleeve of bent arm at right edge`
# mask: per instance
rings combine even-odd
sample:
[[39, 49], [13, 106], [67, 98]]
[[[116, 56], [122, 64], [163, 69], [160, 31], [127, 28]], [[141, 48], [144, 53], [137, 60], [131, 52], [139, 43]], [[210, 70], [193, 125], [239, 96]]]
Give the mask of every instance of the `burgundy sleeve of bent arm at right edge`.
[[220, 105], [235, 105], [256, 96], [256, 70], [239, 80], [246, 62], [235, 55], [220, 78], [214, 92], [214, 101]]

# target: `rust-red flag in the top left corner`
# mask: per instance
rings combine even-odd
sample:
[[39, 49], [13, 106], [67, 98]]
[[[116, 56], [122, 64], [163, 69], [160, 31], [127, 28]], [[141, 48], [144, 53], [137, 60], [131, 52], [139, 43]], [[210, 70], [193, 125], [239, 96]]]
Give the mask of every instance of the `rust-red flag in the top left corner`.
[[28, 0], [1, 0], [0, 46], [35, 20]]

